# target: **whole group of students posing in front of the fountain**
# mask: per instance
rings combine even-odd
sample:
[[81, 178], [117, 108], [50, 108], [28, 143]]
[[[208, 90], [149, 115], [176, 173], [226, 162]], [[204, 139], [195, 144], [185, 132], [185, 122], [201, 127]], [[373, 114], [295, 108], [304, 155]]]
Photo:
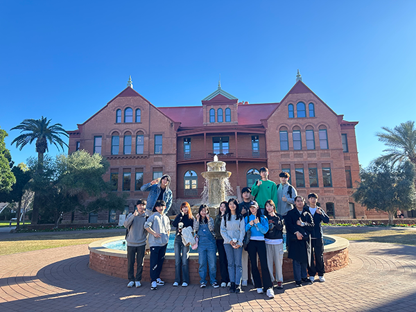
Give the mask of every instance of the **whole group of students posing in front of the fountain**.
[[[190, 244], [187, 242], [189, 242], [189, 233], [193, 231], [197, 241], [193, 248], [198, 245], [200, 288], [207, 287], [207, 274], [209, 274], [212, 287], [229, 287], [230, 293], [241, 293], [241, 287], [248, 285], [248, 259], [250, 259], [251, 279], [254, 288], [257, 288], [257, 293], [266, 292], [268, 297], [275, 297], [273, 283], [276, 281], [277, 288], [283, 288], [284, 227], [286, 227], [288, 258], [293, 259], [296, 286], [302, 286], [302, 283], [312, 284], [316, 273], [319, 280], [324, 281], [324, 243], [320, 224], [327, 223], [329, 218], [317, 206], [318, 196], [315, 193], [309, 194], [309, 205], [305, 205], [304, 198], [297, 196], [295, 188], [288, 183], [290, 177], [288, 173], [279, 174], [278, 185], [268, 180], [267, 168], [261, 168], [260, 175], [261, 180], [258, 180], [252, 189], [245, 187], [241, 191], [243, 202], [239, 203], [234, 198], [221, 202], [215, 219], [209, 216], [207, 205], [200, 205], [198, 214], [194, 218], [189, 203], [182, 203], [180, 213], [172, 223], [173, 227], [176, 227], [173, 286], [180, 285], [181, 272], [182, 287], [189, 285]], [[148, 185], [148, 188], [160, 189], [162, 182], [159, 184], [154, 182], [145, 185]], [[168, 183], [165, 189], [168, 189]], [[129, 214], [124, 223], [125, 227], [130, 227], [126, 236], [128, 287], [141, 286], [148, 233], [150, 233], [148, 243], [151, 289], [155, 290], [157, 286], [164, 285], [159, 275], [171, 227], [166, 216], [166, 202], [160, 198], [160, 192], [157, 196], [155, 207], [151, 211], [149, 209], [145, 211], [146, 200], [139, 200], [137, 210]], [[255, 200], [252, 200], [252, 196]], [[136, 225], [134, 231], [132, 225]], [[220, 284], [216, 280], [217, 250], [220, 261]], [[136, 277], [133, 273], [135, 257], [137, 258]], [[258, 261], [261, 264], [261, 276], [257, 266]]]

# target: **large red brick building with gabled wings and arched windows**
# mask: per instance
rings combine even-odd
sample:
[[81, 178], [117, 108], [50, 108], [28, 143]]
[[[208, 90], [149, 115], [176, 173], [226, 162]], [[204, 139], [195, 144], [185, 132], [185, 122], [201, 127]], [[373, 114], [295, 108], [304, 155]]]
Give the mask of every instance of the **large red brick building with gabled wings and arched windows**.
[[[162, 173], [172, 177], [173, 211], [184, 200], [200, 204], [205, 183], [200, 173], [218, 155], [232, 172], [234, 196], [267, 166], [270, 180], [279, 182], [279, 173], [287, 171], [300, 195], [318, 193], [331, 216], [363, 218], [364, 207], [351, 198], [359, 180], [358, 122], [345, 121], [297, 77], [278, 103], [242, 103], [218, 85], [202, 105], [187, 107], [155, 107], [129, 80], [78, 130], [69, 131], [69, 153], [85, 149], [106, 157], [111, 166], [105, 179], [114, 191], [128, 193], [130, 211], [147, 197], [141, 185]], [[119, 213], [101, 211], [72, 221], [109, 222]]]

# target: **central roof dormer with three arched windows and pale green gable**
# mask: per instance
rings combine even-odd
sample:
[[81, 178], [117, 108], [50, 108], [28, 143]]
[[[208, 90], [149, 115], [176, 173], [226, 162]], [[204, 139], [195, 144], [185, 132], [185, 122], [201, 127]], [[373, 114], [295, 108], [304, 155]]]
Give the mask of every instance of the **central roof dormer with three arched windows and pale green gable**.
[[237, 106], [239, 99], [218, 89], [202, 99], [204, 125], [235, 125], [238, 124]]

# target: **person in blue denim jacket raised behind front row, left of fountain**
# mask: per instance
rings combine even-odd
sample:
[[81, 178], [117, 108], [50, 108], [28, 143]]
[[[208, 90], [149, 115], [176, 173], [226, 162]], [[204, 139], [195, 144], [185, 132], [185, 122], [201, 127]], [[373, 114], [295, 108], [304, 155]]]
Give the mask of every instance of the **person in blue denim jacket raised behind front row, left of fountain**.
[[168, 210], [172, 206], [172, 191], [169, 188], [171, 184], [171, 177], [168, 175], [162, 175], [159, 179], [155, 179], [152, 182], [144, 184], [140, 191], [146, 192], [149, 191], [147, 198], [146, 214], [151, 216], [155, 212], [155, 203], [157, 200], [164, 200], [166, 202], [166, 209], [164, 214], [168, 213]]

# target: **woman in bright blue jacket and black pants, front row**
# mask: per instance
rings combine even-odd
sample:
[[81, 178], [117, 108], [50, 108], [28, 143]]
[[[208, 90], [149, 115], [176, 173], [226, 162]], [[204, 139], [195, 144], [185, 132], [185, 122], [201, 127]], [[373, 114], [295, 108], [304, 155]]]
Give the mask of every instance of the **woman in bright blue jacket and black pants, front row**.
[[[269, 298], [274, 298], [273, 283], [267, 265], [266, 242], [264, 234], [268, 232], [269, 225], [266, 216], [261, 214], [259, 204], [254, 200], [250, 202], [250, 212], [244, 218], [245, 232], [250, 231], [250, 242], [247, 245], [248, 257], [250, 258], [254, 287], [257, 293], [266, 291]], [[257, 268], [257, 254], [259, 254], [261, 265], [261, 277], [259, 268]], [[261, 287], [263, 279], [263, 288]]]

